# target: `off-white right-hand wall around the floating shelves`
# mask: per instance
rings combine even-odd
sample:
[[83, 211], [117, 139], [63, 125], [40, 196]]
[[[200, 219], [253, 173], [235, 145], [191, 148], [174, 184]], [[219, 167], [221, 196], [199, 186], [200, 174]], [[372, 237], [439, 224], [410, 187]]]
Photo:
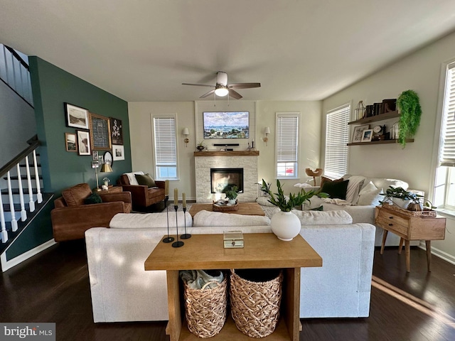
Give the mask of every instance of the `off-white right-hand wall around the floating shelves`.
[[[350, 146], [348, 173], [398, 178], [407, 181], [410, 188], [429, 193], [434, 167], [432, 160], [441, 64], [454, 57], [455, 33], [452, 33], [323, 101], [323, 113], [326, 113], [347, 102], [352, 102], [355, 107], [360, 100], [364, 104], [373, 104], [382, 99], [397, 98], [405, 90], [412, 89], [419, 94], [422, 119], [414, 143], [407, 144], [404, 149], [395, 144]], [[432, 242], [437, 253], [453, 262], [454, 235], [455, 220], [452, 217], [447, 220], [446, 239]]]

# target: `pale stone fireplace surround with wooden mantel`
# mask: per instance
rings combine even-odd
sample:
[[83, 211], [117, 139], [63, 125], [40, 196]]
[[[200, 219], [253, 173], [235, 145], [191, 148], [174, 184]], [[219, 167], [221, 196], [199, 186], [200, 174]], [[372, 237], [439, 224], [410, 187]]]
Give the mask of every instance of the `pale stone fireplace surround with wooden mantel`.
[[257, 197], [257, 157], [259, 151], [201, 151], [194, 152], [196, 202], [211, 203], [224, 194], [210, 193], [210, 168], [243, 168], [243, 193], [238, 202], [254, 202]]

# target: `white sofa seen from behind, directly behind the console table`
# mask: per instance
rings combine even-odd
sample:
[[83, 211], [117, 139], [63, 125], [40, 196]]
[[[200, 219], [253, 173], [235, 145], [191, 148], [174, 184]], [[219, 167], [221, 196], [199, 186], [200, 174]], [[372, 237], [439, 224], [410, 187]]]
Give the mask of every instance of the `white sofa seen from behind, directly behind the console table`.
[[[181, 234], [183, 212], [179, 213]], [[144, 271], [144, 261], [167, 233], [165, 215], [117, 215], [110, 229], [95, 227], [85, 232], [95, 323], [168, 320], [166, 273]], [[375, 227], [352, 224], [343, 211], [298, 211], [296, 215], [302, 223], [301, 236], [323, 259], [322, 267], [301, 271], [300, 317], [367, 317]], [[218, 226], [213, 226], [214, 220]], [[271, 232], [268, 217], [220, 212], [201, 211], [194, 220], [186, 212], [186, 224], [191, 234], [221, 234], [232, 229]], [[175, 222], [171, 233], [175, 234]]]

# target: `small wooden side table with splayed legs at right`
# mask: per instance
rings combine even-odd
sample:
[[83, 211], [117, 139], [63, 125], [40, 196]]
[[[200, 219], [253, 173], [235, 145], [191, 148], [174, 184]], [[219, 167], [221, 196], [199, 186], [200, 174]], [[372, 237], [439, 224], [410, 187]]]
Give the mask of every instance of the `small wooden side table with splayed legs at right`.
[[390, 205], [377, 206], [375, 210], [375, 224], [384, 229], [380, 254], [384, 253], [387, 232], [393, 232], [400, 236], [401, 254], [403, 241], [405, 242], [406, 271], [410, 272], [410, 241], [424, 240], [427, 247], [427, 269], [431, 270], [432, 264], [432, 240], [442, 240], [446, 233], [446, 218], [444, 217], [412, 217], [407, 210], [397, 210]]

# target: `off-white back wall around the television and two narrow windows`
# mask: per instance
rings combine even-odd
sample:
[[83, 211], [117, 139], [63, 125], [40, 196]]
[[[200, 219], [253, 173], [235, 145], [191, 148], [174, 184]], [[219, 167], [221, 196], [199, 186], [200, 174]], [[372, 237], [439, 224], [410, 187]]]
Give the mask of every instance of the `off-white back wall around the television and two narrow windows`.
[[[256, 149], [259, 151], [258, 158], [258, 181], [264, 178], [267, 182], [275, 183], [275, 113], [276, 112], [301, 112], [301, 139], [300, 139], [300, 167], [298, 180], [286, 180], [284, 190], [295, 193], [295, 183], [301, 183], [309, 179], [305, 174], [305, 168], [318, 168], [319, 154], [321, 153], [319, 141], [321, 140], [321, 102], [242, 102], [217, 101], [213, 107], [212, 101], [200, 102], [129, 102], [129, 129], [131, 135], [132, 170], [144, 171], [154, 174], [153, 168], [153, 142], [151, 136], [151, 114], [177, 114], [177, 141], [178, 141], [178, 168], [180, 180], [171, 181], [169, 185], [170, 198], [173, 188], [178, 188], [178, 193], [186, 193], [188, 200], [196, 200], [196, 181], [193, 152], [196, 144], [202, 139], [202, 112], [208, 110], [237, 111], [247, 110], [252, 114], [250, 119], [251, 137], [247, 140], [239, 140], [242, 145], [235, 148], [247, 148], [248, 141], [255, 139]], [[198, 129], [196, 129], [198, 124]], [[266, 146], [262, 141], [264, 127], [269, 126], [269, 144]], [[181, 135], [183, 128], [188, 128], [190, 143], [185, 147], [184, 136]], [[205, 140], [208, 141], [208, 140]], [[235, 141], [237, 143], [237, 141]], [[212, 144], [210, 141], [208, 144]], [[210, 149], [215, 149], [209, 146]], [[240, 149], [236, 149], [240, 150]]]

